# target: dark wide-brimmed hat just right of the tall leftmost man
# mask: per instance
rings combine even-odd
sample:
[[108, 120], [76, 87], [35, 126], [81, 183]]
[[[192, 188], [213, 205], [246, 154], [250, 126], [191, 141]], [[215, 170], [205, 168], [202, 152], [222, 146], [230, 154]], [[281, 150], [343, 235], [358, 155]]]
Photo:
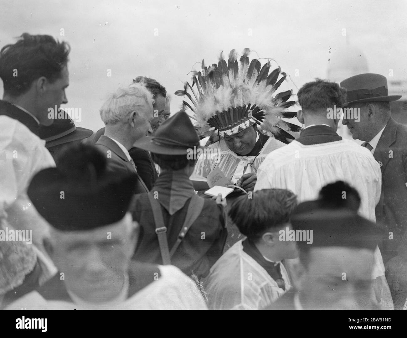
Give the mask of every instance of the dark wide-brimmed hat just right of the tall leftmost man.
[[83, 140], [93, 134], [93, 131], [77, 127], [68, 114], [63, 119], [54, 119], [52, 125], [40, 125], [39, 137], [46, 141], [47, 148], [77, 140]]

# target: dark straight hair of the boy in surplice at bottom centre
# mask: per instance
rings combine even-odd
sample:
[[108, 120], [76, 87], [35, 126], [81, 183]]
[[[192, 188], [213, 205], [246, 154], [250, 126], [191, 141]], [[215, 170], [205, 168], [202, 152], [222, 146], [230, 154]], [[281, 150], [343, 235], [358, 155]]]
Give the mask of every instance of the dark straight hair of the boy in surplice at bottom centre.
[[269, 228], [278, 228], [289, 222], [291, 211], [297, 205], [297, 196], [285, 189], [263, 189], [237, 198], [229, 216], [240, 232], [252, 241], [258, 241]]

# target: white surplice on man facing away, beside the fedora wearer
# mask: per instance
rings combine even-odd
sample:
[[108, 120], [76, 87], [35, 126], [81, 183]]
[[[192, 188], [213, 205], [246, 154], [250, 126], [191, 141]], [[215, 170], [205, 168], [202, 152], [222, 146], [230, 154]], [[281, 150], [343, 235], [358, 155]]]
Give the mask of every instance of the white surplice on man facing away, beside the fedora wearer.
[[[359, 213], [376, 222], [374, 208], [381, 193], [381, 170], [372, 153], [351, 140], [303, 145], [292, 141], [271, 152], [257, 170], [254, 191], [289, 189], [298, 202], [315, 200], [322, 187], [338, 180], [354, 187], [360, 197]], [[384, 275], [379, 248], [374, 254], [372, 279]]]

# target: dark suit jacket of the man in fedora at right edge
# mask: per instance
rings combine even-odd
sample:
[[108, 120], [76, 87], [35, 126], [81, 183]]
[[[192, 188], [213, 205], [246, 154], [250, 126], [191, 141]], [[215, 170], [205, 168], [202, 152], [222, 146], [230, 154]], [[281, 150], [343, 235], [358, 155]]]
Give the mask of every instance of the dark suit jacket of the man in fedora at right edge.
[[388, 242], [393, 243], [391, 250], [395, 250], [407, 229], [407, 127], [390, 119], [373, 156], [381, 165], [382, 172], [382, 193], [376, 206], [376, 221], [383, 222], [387, 230], [394, 233], [394, 240]]

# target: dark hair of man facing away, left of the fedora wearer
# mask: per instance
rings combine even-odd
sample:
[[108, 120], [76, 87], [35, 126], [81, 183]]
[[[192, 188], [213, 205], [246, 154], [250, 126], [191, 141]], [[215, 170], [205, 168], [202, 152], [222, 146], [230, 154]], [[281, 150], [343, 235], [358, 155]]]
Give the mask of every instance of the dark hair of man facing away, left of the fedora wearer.
[[340, 108], [346, 102], [346, 89], [340, 88], [335, 82], [317, 78], [313, 82], [305, 83], [298, 90], [297, 96], [302, 110], [312, 112], [333, 105]]

